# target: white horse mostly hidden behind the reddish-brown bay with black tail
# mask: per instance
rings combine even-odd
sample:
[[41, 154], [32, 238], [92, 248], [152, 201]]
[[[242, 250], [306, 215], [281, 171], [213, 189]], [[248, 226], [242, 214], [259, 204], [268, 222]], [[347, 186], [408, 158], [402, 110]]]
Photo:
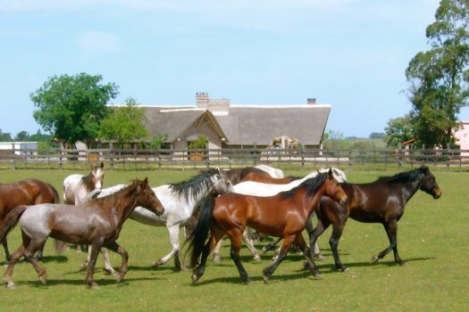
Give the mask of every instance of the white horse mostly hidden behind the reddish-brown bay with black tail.
[[[241, 182], [238, 185], [233, 186], [233, 193], [240, 193], [244, 195], [254, 195], [254, 196], [273, 196], [284, 191], [289, 191], [292, 188], [296, 187], [297, 185], [300, 185], [306, 179], [311, 178], [311, 177], [316, 177], [319, 173], [328, 172], [329, 169], [330, 168], [321, 168], [319, 170], [313, 171], [309, 173], [308, 175], [306, 175], [306, 177], [294, 180], [287, 185], [271, 185], [271, 184], [259, 183], [259, 182], [254, 182], [254, 181]], [[337, 181], [339, 181], [339, 183], [347, 182], [347, 177], [342, 170], [338, 168], [331, 168], [331, 169], [332, 169], [332, 175], [335, 177]], [[310, 221], [308, 222], [308, 225], [309, 224], [311, 224]], [[261, 256], [255, 249], [254, 243], [248, 238], [247, 229], [243, 233], [243, 241], [246, 242], [247, 248], [251, 252], [255, 261], [260, 261]], [[220, 261], [220, 249], [221, 248], [222, 248], [222, 240], [220, 240], [214, 248], [214, 261], [215, 262]], [[314, 254], [316, 255], [321, 254], [321, 250], [319, 250], [319, 247], [317, 246], [317, 244], [314, 244]]]

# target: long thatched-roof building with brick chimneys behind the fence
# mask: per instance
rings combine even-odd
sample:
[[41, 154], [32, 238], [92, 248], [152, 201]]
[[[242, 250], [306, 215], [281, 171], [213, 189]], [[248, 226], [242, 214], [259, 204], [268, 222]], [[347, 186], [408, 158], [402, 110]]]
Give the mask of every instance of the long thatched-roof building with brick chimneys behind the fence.
[[241, 105], [228, 99], [210, 99], [197, 93], [196, 106], [144, 106], [146, 127], [151, 135], [168, 135], [167, 143], [185, 149], [199, 135], [208, 138], [208, 148], [259, 147], [287, 136], [306, 147], [322, 144], [331, 105], [305, 104]]

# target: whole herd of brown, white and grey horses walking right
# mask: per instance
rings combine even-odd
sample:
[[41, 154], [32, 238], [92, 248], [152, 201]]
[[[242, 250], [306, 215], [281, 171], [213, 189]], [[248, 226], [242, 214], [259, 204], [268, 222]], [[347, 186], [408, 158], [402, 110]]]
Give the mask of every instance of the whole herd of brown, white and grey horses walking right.
[[[93, 279], [96, 258], [103, 253], [105, 270], [121, 281], [128, 271], [129, 254], [117, 242], [127, 218], [149, 226], [166, 226], [172, 250], [155, 260], [155, 266], [174, 259], [175, 267], [184, 268], [180, 261], [180, 226], [186, 226], [188, 266], [193, 268], [192, 283], [204, 275], [205, 265], [214, 250], [220, 254], [222, 238], [230, 239], [230, 258], [235, 263], [243, 283], [252, 283], [239, 259], [244, 240], [255, 260], [260, 256], [247, 235], [247, 228], [278, 237], [264, 246], [264, 252], [281, 242], [278, 256], [265, 267], [263, 279], [268, 283], [290, 247], [295, 244], [306, 258], [306, 268], [316, 277], [321, 275], [314, 263], [320, 255], [315, 245], [319, 235], [332, 226], [331, 251], [335, 266], [344, 266], [339, 259], [338, 244], [348, 218], [360, 222], [381, 223], [389, 237], [389, 247], [373, 256], [382, 259], [390, 250], [395, 262], [405, 261], [398, 255], [398, 220], [406, 202], [418, 191], [440, 198], [441, 191], [429, 168], [422, 166], [380, 177], [367, 184], [351, 184], [338, 168], [314, 170], [306, 177], [284, 177], [280, 169], [265, 165], [221, 170], [209, 168], [186, 181], [151, 188], [147, 178], [130, 185], [102, 188], [104, 165], [92, 167], [88, 176], [71, 175], [63, 181], [63, 201], [53, 185], [38, 179], [13, 184], [0, 184], [0, 241], [8, 262], [4, 274], [7, 288], [12, 281], [15, 263], [24, 257], [46, 283], [46, 270], [39, 263], [48, 237], [56, 242], [88, 245], [85, 283], [97, 288]], [[317, 216], [313, 227], [311, 217]], [[10, 255], [6, 235], [21, 224], [21, 246]], [[309, 235], [306, 243], [303, 230]], [[63, 243], [56, 243], [57, 246]], [[121, 267], [116, 271], [107, 250], [121, 255]], [[38, 254], [37, 256], [35, 256]]]

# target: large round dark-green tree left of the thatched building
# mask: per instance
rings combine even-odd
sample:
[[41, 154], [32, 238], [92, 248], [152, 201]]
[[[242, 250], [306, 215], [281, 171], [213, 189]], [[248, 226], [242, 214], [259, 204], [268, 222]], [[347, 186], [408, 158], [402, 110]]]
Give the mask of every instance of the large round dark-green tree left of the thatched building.
[[101, 84], [101, 80], [101, 75], [86, 73], [48, 78], [30, 94], [38, 107], [34, 119], [60, 141], [74, 144], [94, 140], [100, 121], [109, 113], [106, 103], [118, 94], [118, 86]]

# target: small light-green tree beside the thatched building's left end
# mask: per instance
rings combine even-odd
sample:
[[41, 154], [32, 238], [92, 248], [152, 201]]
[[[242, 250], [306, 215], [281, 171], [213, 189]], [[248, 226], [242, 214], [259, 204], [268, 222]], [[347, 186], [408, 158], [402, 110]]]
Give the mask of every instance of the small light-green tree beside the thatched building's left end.
[[147, 139], [148, 130], [143, 126], [145, 110], [139, 108], [133, 98], [128, 98], [125, 105], [114, 107], [112, 112], [101, 122], [99, 138], [115, 141], [117, 144], [131, 143]]

